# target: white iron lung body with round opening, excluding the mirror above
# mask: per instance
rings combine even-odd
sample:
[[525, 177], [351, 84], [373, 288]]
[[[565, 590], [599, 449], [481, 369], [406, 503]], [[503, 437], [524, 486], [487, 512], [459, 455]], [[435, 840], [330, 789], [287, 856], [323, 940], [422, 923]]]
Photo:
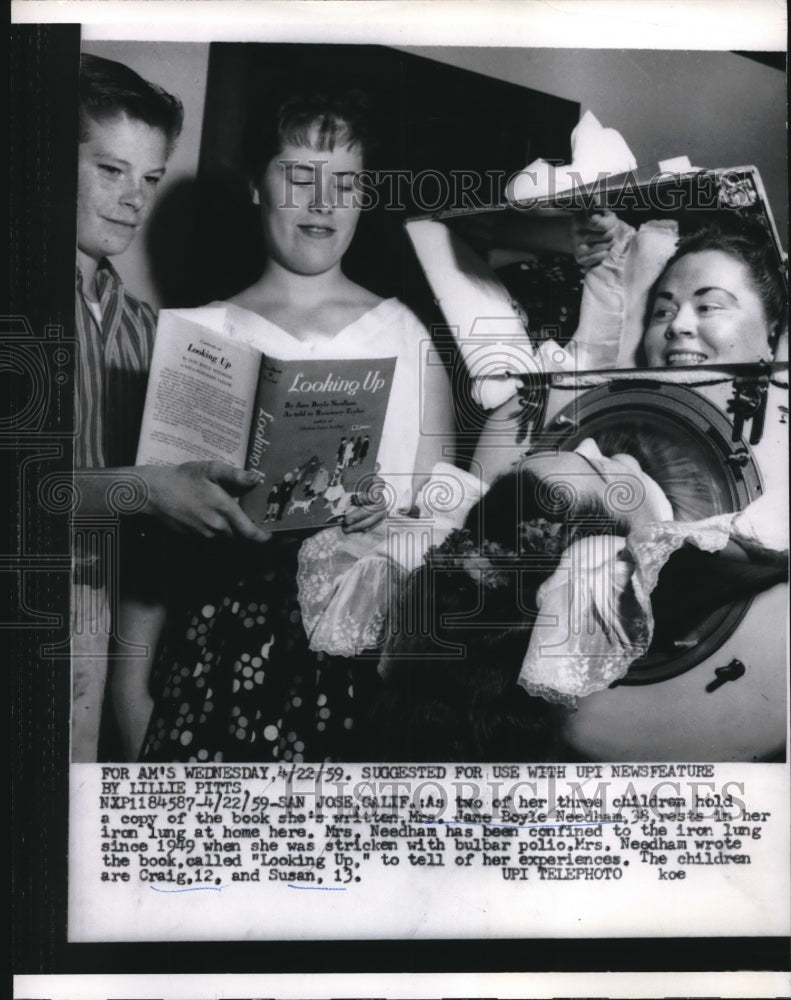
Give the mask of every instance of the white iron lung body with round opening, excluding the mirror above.
[[[787, 387], [787, 365], [780, 364], [554, 375], [543, 391], [526, 386], [511, 417], [522, 453], [571, 450], [593, 438], [604, 454], [633, 454], [665, 489], [676, 520], [743, 510], [762, 496], [783, 519]], [[514, 428], [502, 430], [490, 438], [495, 450], [498, 438], [512, 447]], [[657, 626], [651, 649], [627, 676], [580, 699], [564, 726], [570, 754], [602, 761], [782, 758], [788, 584], [757, 587], [692, 622], [683, 620], [682, 594], [678, 600], [678, 623], [671, 615]]]

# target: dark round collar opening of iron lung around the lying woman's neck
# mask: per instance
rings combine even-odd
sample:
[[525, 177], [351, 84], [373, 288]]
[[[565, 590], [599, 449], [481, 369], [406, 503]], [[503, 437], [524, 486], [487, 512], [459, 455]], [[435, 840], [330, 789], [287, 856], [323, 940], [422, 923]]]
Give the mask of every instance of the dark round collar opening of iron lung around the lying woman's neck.
[[[742, 510], [760, 495], [755, 459], [732, 432], [727, 415], [699, 390], [663, 382], [581, 391], [546, 428], [562, 450], [590, 437], [605, 455], [633, 455], [663, 488], [677, 521]], [[619, 683], [651, 684], [690, 670], [733, 634], [749, 606], [748, 598], [693, 622], [666, 622]]]

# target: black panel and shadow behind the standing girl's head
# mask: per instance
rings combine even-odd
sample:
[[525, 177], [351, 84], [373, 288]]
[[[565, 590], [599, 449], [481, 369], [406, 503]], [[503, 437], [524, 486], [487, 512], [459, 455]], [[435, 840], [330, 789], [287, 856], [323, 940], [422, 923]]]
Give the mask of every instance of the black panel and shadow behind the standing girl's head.
[[[174, 185], [152, 220], [149, 252], [161, 301], [198, 305], [257, 278], [262, 253], [250, 202], [250, 139], [295, 89], [351, 88], [372, 102], [378, 142], [366, 166], [386, 178], [371, 192], [377, 207], [363, 213], [344, 268], [418, 311], [426, 289], [404, 237], [406, 215], [458, 201], [460, 171], [473, 184], [483, 179], [479, 200], [497, 201], [505, 179], [529, 159], [568, 158], [579, 117], [575, 101], [384, 46], [215, 43], [197, 176]], [[413, 182], [397, 183], [398, 172]]]

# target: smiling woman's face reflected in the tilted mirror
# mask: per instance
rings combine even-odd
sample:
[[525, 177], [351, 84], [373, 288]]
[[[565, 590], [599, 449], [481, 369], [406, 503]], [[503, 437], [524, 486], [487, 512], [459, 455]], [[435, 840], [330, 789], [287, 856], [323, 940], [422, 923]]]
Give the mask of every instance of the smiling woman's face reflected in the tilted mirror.
[[651, 368], [771, 359], [763, 303], [747, 267], [721, 250], [690, 253], [662, 278], [643, 336]]

